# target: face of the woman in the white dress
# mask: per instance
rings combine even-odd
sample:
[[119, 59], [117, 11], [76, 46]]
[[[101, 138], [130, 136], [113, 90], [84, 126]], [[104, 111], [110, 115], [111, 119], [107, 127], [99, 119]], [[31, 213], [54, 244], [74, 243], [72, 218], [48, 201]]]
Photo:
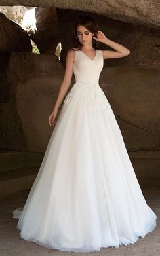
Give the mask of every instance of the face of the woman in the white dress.
[[82, 45], [86, 45], [87, 43], [92, 42], [92, 35], [94, 33], [91, 33], [85, 26], [78, 26], [77, 27], [77, 37], [79, 39], [79, 42]]

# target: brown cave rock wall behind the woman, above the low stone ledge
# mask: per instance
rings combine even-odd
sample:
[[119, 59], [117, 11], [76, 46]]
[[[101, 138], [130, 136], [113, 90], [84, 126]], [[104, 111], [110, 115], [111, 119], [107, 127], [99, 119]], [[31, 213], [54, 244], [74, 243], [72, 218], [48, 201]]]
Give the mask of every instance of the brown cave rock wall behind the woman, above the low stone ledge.
[[[65, 10], [68, 5], [64, 9], [35, 8], [37, 31], [31, 37], [0, 14], [1, 149], [45, 151], [52, 133], [48, 118], [64, 76], [73, 22], [80, 14], [91, 14], [77, 11], [77, 2], [75, 5], [75, 10]], [[142, 26], [135, 20], [131, 23], [129, 18], [125, 23], [96, 13], [92, 16], [109, 39], [131, 50], [125, 58], [104, 60], [100, 75], [100, 86], [111, 103], [127, 149], [158, 150], [159, 29]], [[31, 53], [30, 38], [41, 54]], [[54, 53], [60, 42], [58, 60]], [[111, 50], [102, 43], [100, 49]]]

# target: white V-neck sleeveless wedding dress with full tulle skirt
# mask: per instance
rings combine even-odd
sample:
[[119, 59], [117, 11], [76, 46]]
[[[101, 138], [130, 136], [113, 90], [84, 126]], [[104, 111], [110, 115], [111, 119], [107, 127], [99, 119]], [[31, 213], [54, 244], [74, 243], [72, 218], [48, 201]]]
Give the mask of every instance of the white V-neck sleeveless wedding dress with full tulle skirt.
[[98, 84], [104, 60], [75, 51], [66, 95], [24, 207], [24, 240], [60, 251], [133, 244], [156, 227], [111, 105]]

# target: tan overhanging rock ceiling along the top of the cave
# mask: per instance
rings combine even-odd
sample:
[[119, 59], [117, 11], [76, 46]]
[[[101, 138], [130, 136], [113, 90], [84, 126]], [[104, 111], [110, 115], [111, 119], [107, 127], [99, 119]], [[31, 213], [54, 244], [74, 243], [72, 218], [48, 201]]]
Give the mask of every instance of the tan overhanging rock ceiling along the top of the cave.
[[[99, 4], [98, 4], [99, 3]], [[144, 24], [155, 28], [160, 27], [159, 0], [96, 0], [62, 1], [62, 0], [1, 0], [0, 5], [23, 5], [33, 7], [58, 7], [62, 9], [81, 10], [104, 15], [122, 22]]]

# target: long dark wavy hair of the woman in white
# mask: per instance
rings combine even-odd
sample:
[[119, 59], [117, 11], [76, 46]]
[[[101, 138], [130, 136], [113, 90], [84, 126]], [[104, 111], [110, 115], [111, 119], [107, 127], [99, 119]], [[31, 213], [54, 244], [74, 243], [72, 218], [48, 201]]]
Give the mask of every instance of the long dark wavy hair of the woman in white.
[[[80, 50], [82, 48], [82, 44], [79, 42], [77, 37], [77, 27], [85, 26], [91, 33], [94, 33], [94, 37], [97, 37], [98, 33], [98, 24], [94, 18], [88, 15], [81, 15], [77, 18], [75, 24], [73, 24], [73, 48], [78, 48]], [[94, 49], [97, 49], [99, 46], [99, 42], [92, 38], [92, 45]], [[74, 49], [75, 50], [75, 49]]]

